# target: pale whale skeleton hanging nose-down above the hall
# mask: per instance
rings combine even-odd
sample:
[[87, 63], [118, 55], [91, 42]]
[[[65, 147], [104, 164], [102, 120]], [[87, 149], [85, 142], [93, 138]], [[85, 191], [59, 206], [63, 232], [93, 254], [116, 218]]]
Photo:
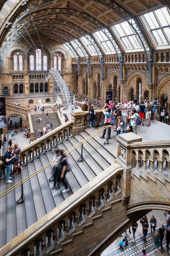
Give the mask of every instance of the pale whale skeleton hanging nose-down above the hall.
[[46, 81], [49, 80], [50, 76], [53, 76], [54, 78], [53, 97], [55, 105], [64, 105], [64, 107], [60, 108], [61, 113], [68, 114], [68, 111], [66, 110], [70, 110], [69, 112], [71, 112], [71, 110], [74, 109], [81, 109], [75, 104], [85, 104], [85, 102], [78, 102], [76, 100], [76, 95], [74, 95], [70, 87], [66, 84], [62, 76], [59, 74], [58, 70], [52, 67], [48, 75], [46, 76]]

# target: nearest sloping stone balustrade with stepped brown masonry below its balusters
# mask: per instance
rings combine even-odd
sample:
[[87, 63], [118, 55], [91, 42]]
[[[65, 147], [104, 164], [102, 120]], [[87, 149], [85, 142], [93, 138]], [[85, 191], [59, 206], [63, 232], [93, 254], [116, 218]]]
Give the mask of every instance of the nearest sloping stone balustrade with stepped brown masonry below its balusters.
[[[96, 233], [96, 241], [98, 241], [97, 237], [101, 238], [101, 234], [98, 233], [100, 218], [108, 220], [108, 211], [113, 212], [114, 215], [114, 209], [118, 214], [124, 209], [121, 203], [122, 172], [123, 169], [119, 164], [109, 166], [2, 247], [1, 256], [10, 252], [13, 256], [58, 255], [61, 251], [65, 253], [69, 244], [78, 238], [77, 236], [79, 238], [82, 236], [85, 238], [85, 234], [90, 236], [87, 232], [89, 228], [94, 230], [93, 234]], [[125, 221], [126, 217], [123, 219]], [[116, 221], [116, 227], [119, 227], [121, 221], [121, 219]], [[110, 229], [110, 224], [107, 227]], [[105, 226], [105, 231], [107, 227]], [[105, 233], [102, 230], [103, 236]], [[79, 243], [82, 243], [81, 239]], [[74, 249], [77, 251], [77, 247]], [[67, 252], [63, 255], [67, 255]]]

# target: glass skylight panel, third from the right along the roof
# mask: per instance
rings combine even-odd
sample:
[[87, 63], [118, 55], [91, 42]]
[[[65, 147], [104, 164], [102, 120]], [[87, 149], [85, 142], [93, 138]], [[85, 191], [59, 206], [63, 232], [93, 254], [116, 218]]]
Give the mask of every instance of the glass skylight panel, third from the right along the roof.
[[111, 41], [102, 31], [94, 32], [93, 35], [105, 53], [115, 53]]

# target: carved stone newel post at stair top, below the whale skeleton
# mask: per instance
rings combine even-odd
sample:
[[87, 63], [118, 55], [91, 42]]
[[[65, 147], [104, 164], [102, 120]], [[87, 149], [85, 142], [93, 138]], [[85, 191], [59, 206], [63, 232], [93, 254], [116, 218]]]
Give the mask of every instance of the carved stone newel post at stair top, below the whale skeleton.
[[78, 135], [85, 131], [85, 112], [81, 109], [71, 111], [71, 119], [74, 121], [73, 135]]

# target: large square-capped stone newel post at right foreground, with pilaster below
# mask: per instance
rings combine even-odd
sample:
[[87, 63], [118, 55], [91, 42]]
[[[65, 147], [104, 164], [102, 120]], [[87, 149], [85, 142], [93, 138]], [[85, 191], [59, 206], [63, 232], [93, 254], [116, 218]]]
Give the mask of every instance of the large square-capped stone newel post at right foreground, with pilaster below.
[[122, 198], [123, 201], [127, 201], [130, 197], [131, 187], [131, 144], [134, 142], [141, 142], [142, 138], [132, 132], [127, 134], [121, 134], [116, 139], [118, 142], [117, 158], [115, 163], [119, 163], [123, 168], [122, 175]]

